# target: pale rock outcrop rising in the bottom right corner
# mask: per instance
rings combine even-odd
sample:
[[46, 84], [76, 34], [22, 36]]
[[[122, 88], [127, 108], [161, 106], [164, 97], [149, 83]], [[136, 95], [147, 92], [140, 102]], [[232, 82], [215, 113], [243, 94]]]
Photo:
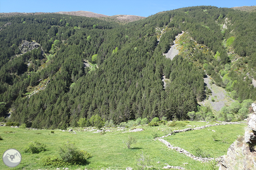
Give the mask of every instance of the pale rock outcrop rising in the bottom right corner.
[[227, 155], [221, 156], [219, 170], [256, 170], [256, 103], [252, 104], [252, 113], [244, 137], [239, 137], [228, 148]]

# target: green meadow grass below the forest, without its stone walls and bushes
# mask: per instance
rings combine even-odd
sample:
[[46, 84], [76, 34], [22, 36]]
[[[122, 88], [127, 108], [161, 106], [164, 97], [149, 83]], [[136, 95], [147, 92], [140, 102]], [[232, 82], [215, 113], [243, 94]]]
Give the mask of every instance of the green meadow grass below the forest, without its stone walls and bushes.
[[[190, 122], [191, 126], [203, 126], [205, 122]], [[211, 137], [212, 131], [208, 129], [202, 129], [198, 131], [189, 131], [178, 133], [175, 136], [169, 136], [164, 138], [174, 146], [179, 146], [183, 149], [191, 151], [194, 145], [199, 145], [203, 150], [208, 150], [214, 157], [226, 154], [226, 150], [229, 145], [235, 141], [238, 135], [243, 135], [243, 127], [245, 125], [225, 125], [218, 127], [210, 127], [221, 136], [228, 136], [229, 138], [222, 142], [218, 140], [213, 141]], [[181, 129], [187, 128], [182, 127]], [[158, 134], [163, 136], [170, 133], [171, 130], [178, 127], [171, 128], [167, 125], [161, 125], [156, 127], [150, 127], [147, 125], [138, 126], [137, 128], [143, 128], [141, 132], [126, 132], [117, 131], [118, 128], [109, 128], [112, 132], [106, 132], [106, 134], [93, 133], [89, 131], [83, 131], [80, 128], [74, 129], [77, 134], [71, 134], [68, 131], [54, 130], [52, 134], [51, 130], [27, 130], [12, 127], [0, 127], [0, 135], [3, 140], [0, 141], [0, 153], [10, 148], [19, 150], [22, 154], [22, 162], [15, 168], [9, 168], [1, 161], [1, 170], [56, 170], [57, 167], [43, 167], [40, 163], [40, 159], [47, 155], [55, 155], [58, 152], [58, 148], [66, 141], [75, 142], [79, 149], [86, 150], [91, 153], [92, 157], [89, 159], [87, 165], [69, 166], [70, 170], [101, 170], [106, 168], [113, 170], [125, 170], [126, 167], [135, 167], [138, 162], [138, 155], [142, 152], [151, 158], [152, 165], [155, 169], [163, 169], [165, 163], [173, 166], [180, 166], [191, 170], [208, 170], [209, 163], [201, 163], [180, 154], [174, 150], [168, 149], [163, 143], [158, 140], [154, 140], [152, 134]], [[95, 132], [95, 131], [94, 131]], [[128, 149], [125, 141], [128, 136], [136, 137], [138, 142], [131, 145], [131, 149]], [[207, 140], [206, 140], [207, 139]], [[22, 150], [31, 141], [39, 141], [47, 145], [47, 150], [39, 154], [24, 153]], [[200, 143], [201, 141], [201, 143]], [[209, 146], [205, 147], [205, 146]], [[210, 147], [212, 146], [212, 147]], [[191, 153], [193, 153], [191, 151]], [[157, 163], [160, 161], [160, 163]], [[188, 163], [188, 164], [183, 164]], [[62, 169], [63, 167], [59, 167]], [[65, 167], [66, 168], [66, 167]]]

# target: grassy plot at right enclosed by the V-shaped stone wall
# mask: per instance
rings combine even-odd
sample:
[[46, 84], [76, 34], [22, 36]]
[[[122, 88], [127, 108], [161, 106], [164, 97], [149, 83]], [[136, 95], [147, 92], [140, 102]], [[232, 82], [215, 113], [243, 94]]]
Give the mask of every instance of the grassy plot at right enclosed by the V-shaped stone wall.
[[[226, 155], [228, 147], [239, 136], [243, 136], [244, 127], [243, 124], [212, 126], [198, 131], [177, 133], [165, 137], [165, 140], [173, 146], [188, 150], [193, 155], [202, 152], [203, 155], [217, 158]], [[196, 150], [198, 147], [201, 151]]]

